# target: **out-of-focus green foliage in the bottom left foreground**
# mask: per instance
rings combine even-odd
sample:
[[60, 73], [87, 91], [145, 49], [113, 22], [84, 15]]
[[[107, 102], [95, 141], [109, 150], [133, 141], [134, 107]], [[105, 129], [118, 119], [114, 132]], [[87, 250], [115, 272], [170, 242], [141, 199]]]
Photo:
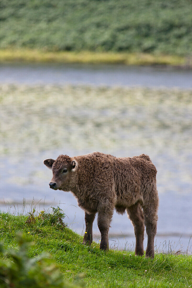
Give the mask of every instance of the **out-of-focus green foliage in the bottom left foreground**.
[[[0, 245], [0, 287], [15, 288], [77, 288], [63, 280], [59, 268], [49, 254], [29, 258], [27, 247], [32, 245], [22, 233], [17, 234], [18, 250], [3, 251]], [[10, 260], [6, 259], [9, 258]]]

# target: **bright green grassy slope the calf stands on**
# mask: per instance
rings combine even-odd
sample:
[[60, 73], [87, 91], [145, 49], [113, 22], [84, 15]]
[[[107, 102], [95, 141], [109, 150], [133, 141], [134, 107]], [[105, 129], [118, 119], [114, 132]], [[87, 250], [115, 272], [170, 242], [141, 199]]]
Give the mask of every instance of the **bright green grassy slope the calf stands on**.
[[0, 213], [0, 240], [5, 248], [16, 248], [15, 232], [23, 231], [34, 241], [29, 255], [50, 252], [66, 279], [85, 273], [86, 287], [191, 287], [192, 257], [156, 255], [154, 260], [135, 257], [132, 252], [103, 252], [93, 243], [83, 246], [82, 237], [69, 228], [26, 224], [26, 216]]

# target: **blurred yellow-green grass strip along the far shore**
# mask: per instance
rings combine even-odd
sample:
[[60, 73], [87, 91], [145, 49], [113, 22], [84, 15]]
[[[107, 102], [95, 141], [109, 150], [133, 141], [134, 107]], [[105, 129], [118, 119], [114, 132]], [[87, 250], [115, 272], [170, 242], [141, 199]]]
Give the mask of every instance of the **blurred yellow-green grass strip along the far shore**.
[[191, 67], [191, 62], [183, 56], [91, 51], [43, 51], [37, 49], [1, 49], [0, 62], [43, 62], [43, 63], [89, 63], [124, 65], [172, 65]]

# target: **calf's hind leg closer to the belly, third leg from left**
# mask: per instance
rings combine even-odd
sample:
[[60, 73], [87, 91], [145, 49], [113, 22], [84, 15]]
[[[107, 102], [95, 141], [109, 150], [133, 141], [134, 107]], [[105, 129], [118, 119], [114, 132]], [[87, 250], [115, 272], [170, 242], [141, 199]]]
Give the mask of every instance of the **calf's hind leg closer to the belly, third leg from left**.
[[134, 227], [136, 238], [135, 255], [142, 256], [144, 254], [143, 240], [145, 230], [143, 211], [141, 209], [140, 203], [136, 203], [130, 207], [127, 207], [126, 210], [128, 217], [131, 220]]

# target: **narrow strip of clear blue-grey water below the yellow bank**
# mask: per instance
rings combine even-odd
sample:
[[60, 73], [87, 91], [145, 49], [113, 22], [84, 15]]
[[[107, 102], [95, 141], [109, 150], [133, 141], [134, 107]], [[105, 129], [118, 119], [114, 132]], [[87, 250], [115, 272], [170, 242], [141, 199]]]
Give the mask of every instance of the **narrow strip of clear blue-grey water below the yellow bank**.
[[70, 83], [192, 89], [192, 70], [125, 65], [0, 64], [0, 83]]

